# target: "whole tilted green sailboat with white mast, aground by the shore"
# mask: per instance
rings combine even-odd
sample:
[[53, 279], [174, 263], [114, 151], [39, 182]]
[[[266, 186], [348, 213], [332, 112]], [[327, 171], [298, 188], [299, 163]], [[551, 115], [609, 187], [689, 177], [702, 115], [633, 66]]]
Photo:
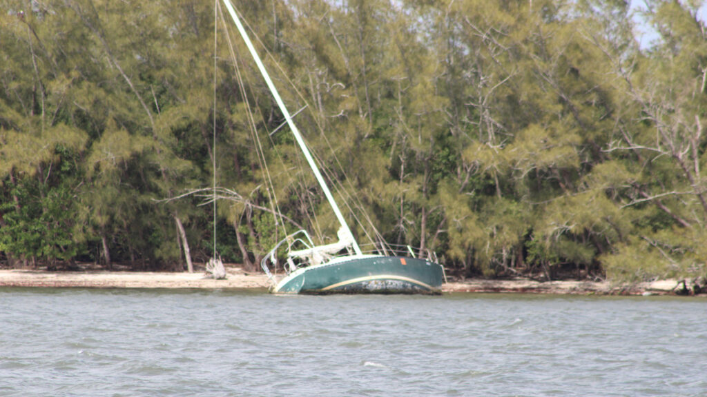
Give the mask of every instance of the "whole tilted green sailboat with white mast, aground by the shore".
[[[344, 215], [341, 214], [329, 186], [322, 177], [312, 154], [303, 140], [296, 124], [271, 81], [255, 47], [240, 22], [230, 0], [223, 0], [248, 51], [262, 74], [267, 86], [279, 106], [317, 182], [339, 221], [338, 242], [316, 246], [308, 232], [299, 230], [277, 243], [261, 262], [263, 271], [273, 281], [271, 292], [281, 294], [326, 294], [326, 293], [421, 293], [439, 294], [445, 279], [444, 269], [431, 258], [413, 256], [388, 256], [364, 254], [351, 233]], [[278, 253], [286, 248], [283, 268], [286, 276], [276, 280], [270, 266], [277, 266]], [[409, 249], [411, 253], [413, 251]], [[344, 254], [340, 254], [344, 252]]]

